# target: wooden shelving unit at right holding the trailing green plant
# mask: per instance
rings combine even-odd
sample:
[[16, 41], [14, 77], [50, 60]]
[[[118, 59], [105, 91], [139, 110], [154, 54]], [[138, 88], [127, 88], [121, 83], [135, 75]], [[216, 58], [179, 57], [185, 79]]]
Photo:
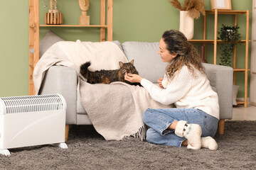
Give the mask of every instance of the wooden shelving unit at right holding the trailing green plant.
[[[213, 40], [207, 40], [206, 39], [206, 16], [208, 14], [214, 14], [214, 39]], [[245, 43], [245, 68], [237, 68], [236, 67], [236, 47], [234, 50], [234, 56], [233, 56], [233, 69], [234, 69], [234, 75], [233, 75], [233, 84], [235, 84], [235, 74], [236, 72], [244, 72], [245, 73], [245, 101], [238, 101], [238, 104], [242, 104], [247, 107], [247, 85], [248, 85], [248, 72], [250, 69], [248, 69], [248, 50], [249, 50], [249, 14], [250, 11], [224, 11], [224, 10], [212, 10], [212, 11], [206, 11], [206, 16], [203, 17], [203, 40], [188, 40], [192, 43], [202, 43], [204, 46], [206, 44], [213, 44], [214, 50], [213, 50], [213, 64], [217, 64], [217, 45], [218, 43], [223, 43], [221, 40], [217, 40], [217, 33], [218, 33], [218, 15], [220, 14], [228, 14], [228, 15], [235, 15], [235, 22], [234, 25], [236, 26], [238, 24], [238, 15], [245, 14], [246, 15], [246, 35], [245, 40], [242, 40], [240, 43]]]

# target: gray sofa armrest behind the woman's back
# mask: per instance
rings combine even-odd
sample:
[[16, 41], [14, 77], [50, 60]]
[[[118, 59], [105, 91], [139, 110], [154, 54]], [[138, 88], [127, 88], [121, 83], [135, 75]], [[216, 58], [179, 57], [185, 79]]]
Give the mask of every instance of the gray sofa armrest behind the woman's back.
[[217, 89], [220, 105], [220, 119], [233, 116], [233, 68], [203, 63], [210, 85]]

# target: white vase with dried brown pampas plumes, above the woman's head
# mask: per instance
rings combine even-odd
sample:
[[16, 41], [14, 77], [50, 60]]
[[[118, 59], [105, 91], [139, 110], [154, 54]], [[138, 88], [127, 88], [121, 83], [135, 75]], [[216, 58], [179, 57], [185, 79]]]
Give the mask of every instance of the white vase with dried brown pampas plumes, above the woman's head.
[[203, 0], [185, 0], [183, 6], [181, 6], [178, 0], [171, 0], [169, 2], [180, 11], [179, 30], [188, 40], [191, 40], [194, 32], [194, 18], [199, 18], [200, 12], [203, 16], [206, 15]]

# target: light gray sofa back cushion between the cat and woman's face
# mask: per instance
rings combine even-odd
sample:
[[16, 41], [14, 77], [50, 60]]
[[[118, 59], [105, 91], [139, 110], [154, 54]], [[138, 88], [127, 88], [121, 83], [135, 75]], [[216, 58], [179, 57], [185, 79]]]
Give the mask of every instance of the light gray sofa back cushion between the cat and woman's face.
[[134, 59], [134, 66], [143, 78], [156, 83], [164, 77], [167, 63], [157, 54], [159, 42], [124, 42], [122, 48], [129, 62]]

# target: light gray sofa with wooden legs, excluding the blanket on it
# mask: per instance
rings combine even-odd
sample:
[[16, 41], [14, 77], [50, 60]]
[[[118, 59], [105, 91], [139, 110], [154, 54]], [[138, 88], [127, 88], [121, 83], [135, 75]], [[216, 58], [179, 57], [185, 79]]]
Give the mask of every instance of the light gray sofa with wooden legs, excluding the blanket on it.
[[[166, 63], [161, 62], [157, 54], [159, 42], [124, 42], [115, 43], [123, 50], [129, 61], [134, 59], [134, 65], [139, 74], [156, 83], [164, 76]], [[225, 119], [232, 118], [233, 109], [233, 69], [214, 64], [203, 64], [210, 85], [218, 93], [220, 103], [219, 133], [224, 132]], [[48, 69], [41, 86], [40, 94], [62, 94], [68, 104], [66, 115], [66, 140], [68, 140], [69, 125], [91, 125], [90, 118], [82, 107], [76, 91], [78, 75], [75, 69], [53, 66]], [[96, 103], [97, 104], [97, 103]]]

